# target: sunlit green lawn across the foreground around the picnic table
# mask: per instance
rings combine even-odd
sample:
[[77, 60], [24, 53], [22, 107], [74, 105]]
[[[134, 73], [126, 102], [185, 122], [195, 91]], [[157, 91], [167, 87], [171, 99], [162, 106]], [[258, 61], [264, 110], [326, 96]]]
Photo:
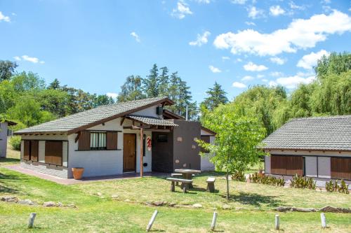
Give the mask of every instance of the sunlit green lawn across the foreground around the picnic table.
[[[208, 175], [208, 174], [206, 174]], [[213, 210], [218, 211], [216, 230], [222, 232], [275, 232], [274, 206], [351, 207], [351, 196], [311, 190], [277, 188], [230, 182], [231, 201], [226, 202], [225, 181], [216, 174], [216, 193], [204, 192], [206, 176], [194, 179], [195, 189], [187, 194], [170, 192], [162, 178], [135, 178], [79, 185], [59, 185], [10, 171], [0, 165], [0, 196], [13, 195], [39, 203], [74, 203], [77, 209], [25, 206], [0, 202], [0, 232], [145, 232], [156, 207], [143, 202], [199, 203], [202, 209], [157, 207], [157, 232], [209, 232]], [[97, 192], [102, 197], [95, 195]], [[118, 195], [112, 199], [111, 195]], [[129, 199], [126, 202], [126, 199]], [[223, 210], [228, 205], [230, 210]], [[26, 228], [29, 213], [36, 212], [35, 228]], [[326, 213], [329, 228], [321, 230], [319, 213], [279, 213], [284, 232], [351, 232], [351, 214]]]

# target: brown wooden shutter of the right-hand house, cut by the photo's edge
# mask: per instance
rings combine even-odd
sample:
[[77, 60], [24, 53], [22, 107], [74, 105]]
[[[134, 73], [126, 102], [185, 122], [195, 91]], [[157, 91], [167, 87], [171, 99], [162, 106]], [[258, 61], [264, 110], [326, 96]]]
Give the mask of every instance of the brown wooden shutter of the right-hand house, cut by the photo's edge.
[[331, 178], [351, 180], [351, 158], [331, 157]]

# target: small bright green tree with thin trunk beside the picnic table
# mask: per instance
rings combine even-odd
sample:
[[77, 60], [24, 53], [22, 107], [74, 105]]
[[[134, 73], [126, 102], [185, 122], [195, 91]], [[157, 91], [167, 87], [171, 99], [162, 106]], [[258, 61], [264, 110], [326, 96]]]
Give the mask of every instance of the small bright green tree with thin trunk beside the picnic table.
[[197, 140], [199, 146], [210, 153], [200, 153], [210, 156], [209, 159], [218, 169], [225, 169], [227, 180], [227, 199], [229, 200], [230, 173], [243, 172], [250, 165], [256, 164], [260, 156], [265, 155], [258, 150], [260, 142], [265, 138], [265, 128], [257, 118], [240, 116], [232, 112], [208, 112], [203, 119], [204, 126], [216, 132], [215, 143], [205, 143]]

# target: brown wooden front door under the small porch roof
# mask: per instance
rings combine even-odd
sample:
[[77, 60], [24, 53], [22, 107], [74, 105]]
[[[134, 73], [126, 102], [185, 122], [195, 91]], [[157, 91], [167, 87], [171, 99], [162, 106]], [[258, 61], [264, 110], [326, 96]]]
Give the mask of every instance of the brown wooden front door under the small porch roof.
[[123, 135], [123, 172], [135, 171], [135, 134]]

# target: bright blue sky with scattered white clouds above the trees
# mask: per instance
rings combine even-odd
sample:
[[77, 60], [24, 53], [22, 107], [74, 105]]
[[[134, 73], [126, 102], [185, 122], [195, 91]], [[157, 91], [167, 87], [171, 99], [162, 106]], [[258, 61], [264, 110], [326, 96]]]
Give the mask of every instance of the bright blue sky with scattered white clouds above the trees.
[[0, 59], [50, 83], [118, 93], [126, 76], [168, 66], [206, 97], [251, 85], [293, 90], [329, 52], [350, 52], [350, 1], [4, 1]]

